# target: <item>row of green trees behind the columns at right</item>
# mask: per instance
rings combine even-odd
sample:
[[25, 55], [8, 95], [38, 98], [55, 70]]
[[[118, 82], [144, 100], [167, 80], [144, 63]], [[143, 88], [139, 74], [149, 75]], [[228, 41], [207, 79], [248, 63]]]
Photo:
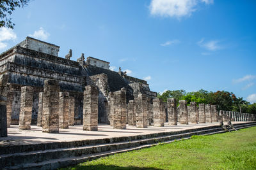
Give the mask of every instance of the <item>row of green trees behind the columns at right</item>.
[[256, 114], [256, 103], [250, 104], [243, 97], [236, 97], [235, 94], [227, 91], [208, 92], [207, 90], [200, 89], [197, 92], [186, 92], [185, 90], [167, 90], [163, 94], [158, 93], [157, 97], [163, 99], [164, 102], [168, 98], [175, 98], [177, 106], [180, 100], [186, 100], [188, 104], [191, 101], [195, 101], [197, 104], [216, 105], [218, 111], [226, 110]]

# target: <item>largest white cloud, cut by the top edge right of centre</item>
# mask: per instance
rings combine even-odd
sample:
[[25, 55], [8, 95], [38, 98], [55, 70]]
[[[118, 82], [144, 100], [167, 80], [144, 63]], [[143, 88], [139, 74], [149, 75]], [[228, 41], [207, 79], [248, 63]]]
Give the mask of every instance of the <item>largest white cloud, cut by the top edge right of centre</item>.
[[196, 11], [198, 3], [211, 4], [213, 0], [152, 0], [150, 14], [160, 17], [185, 17]]

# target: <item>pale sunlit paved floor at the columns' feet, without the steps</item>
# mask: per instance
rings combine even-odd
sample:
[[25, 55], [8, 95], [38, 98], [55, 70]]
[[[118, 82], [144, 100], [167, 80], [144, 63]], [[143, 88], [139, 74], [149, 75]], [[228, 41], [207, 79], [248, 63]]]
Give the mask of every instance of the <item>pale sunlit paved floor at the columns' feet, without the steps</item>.
[[[223, 123], [227, 124], [227, 122]], [[232, 124], [241, 123], [242, 122], [232, 122]], [[98, 131], [83, 131], [83, 125], [74, 125], [70, 126], [69, 129], [60, 129], [59, 133], [54, 134], [42, 132], [42, 127], [38, 127], [36, 125], [31, 125], [31, 130], [29, 131], [19, 130], [19, 125], [11, 125], [11, 127], [8, 128], [8, 137], [1, 138], [0, 146], [118, 138], [125, 136], [155, 134], [159, 132], [177, 132], [188, 129], [211, 127], [215, 125], [220, 125], [220, 123], [214, 122], [189, 125], [180, 125], [179, 123], [178, 125], [168, 125], [168, 123], [164, 123], [164, 127], [148, 126], [148, 128], [137, 128], [136, 126], [127, 125], [127, 129], [113, 129], [113, 127], [110, 125], [99, 124]]]

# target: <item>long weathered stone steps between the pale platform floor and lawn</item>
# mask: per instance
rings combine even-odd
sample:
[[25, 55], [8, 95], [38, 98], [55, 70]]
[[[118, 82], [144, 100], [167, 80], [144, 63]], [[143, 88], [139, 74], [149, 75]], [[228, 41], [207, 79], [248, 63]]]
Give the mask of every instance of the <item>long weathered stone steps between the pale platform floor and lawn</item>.
[[[235, 127], [237, 129], [241, 129], [245, 127], [252, 127], [254, 125], [256, 125], [256, 123], [236, 124]], [[211, 128], [204, 127], [199, 129], [191, 129], [191, 131], [180, 131], [180, 133], [176, 132], [176, 134], [167, 134], [162, 136], [159, 136], [159, 133], [156, 133], [154, 135], [151, 134], [150, 138], [141, 136], [140, 139], [120, 139], [120, 141], [116, 139], [109, 143], [99, 143], [97, 145], [55, 148], [51, 150], [37, 150], [32, 152], [8, 153], [0, 155], [0, 168], [56, 169], [58, 167], [71, 166], [79, 162], [96, 159], [102, 156], [127, 152], [129, 150], [138, 150], [140, 148], [147, 148], [150, 146], [158, 145], [158, 143], [170, 143], [175, 141], [175, 139], [188, 139], [193, 135], [207, 135], [221, 132], [225, 131], [223, 131], [220, 126], [212, 126]]]

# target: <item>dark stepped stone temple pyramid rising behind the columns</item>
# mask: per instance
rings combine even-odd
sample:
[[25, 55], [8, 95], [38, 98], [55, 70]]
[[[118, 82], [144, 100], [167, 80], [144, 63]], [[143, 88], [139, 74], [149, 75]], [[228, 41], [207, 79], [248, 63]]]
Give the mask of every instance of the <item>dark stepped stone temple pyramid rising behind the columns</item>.
[[[60, 92], [68, 92], [74, 97], [74, 124], [83, 123], [83, 100], [86, 85], [93, 85], [99, 90], [98, 122], [109, 123], [108, 101], [109, 94], [122, 88], [126, 89], [126, 101], [134, 100], [138, 94], [154, 98], [156, 92], [150, 91], [147, 81], [127, 76], [119, 69], [118, 72], [109, 69], [109, 62], [87, 57], [84, 54], [77, 61], [70, 60], [72, 50], [65, 58], [58, 57], [60, 46], [27, 37], [24, 41], [13, 46], [0, 55], [1, 74], [8, 75], [7, 83], [7, 124], [19, 124], [22, 87], [32, 89], [31, 124], [39, 123], [42, 117], [42, 99], [45, 80], [58, 80]], [[61, 94], [63, 95], [63, 94]], [[41, 94], [42, 96], [42, 94]], [[39, 103], [39, 106], [38, 106]], [[26, 107], [26, 106], [25, 106]], [[67, 124], [67, 122], [66, 122]]]

